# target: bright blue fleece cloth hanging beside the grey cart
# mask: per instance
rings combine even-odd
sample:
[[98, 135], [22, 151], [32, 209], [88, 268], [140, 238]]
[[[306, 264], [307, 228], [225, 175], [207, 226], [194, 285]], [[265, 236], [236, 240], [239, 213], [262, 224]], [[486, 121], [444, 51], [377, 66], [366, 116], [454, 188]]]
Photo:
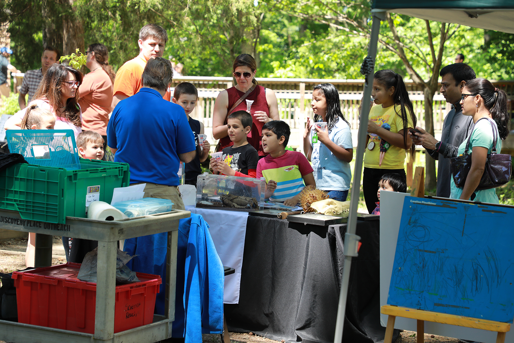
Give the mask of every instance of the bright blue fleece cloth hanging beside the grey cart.
[[[127, 266], [135, 272], [160, 275], [163, 283], [155, 313], [164, 315], [168, 233], [125, 240], [124, 251], [138, 255]], [[223, 264], [201, 215], [191, 213], [178, 226], [177, 285], [172, 337], [201, 342], [202, 333], [223, 330]]]

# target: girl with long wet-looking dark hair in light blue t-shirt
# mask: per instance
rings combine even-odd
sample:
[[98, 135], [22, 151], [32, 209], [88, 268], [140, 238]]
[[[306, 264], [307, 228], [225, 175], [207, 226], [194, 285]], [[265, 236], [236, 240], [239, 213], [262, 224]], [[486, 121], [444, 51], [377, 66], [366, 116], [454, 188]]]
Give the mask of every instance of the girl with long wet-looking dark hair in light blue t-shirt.
[[[341, 112], [339, 92], [331, 83], [314, 86], [310, 105], [314, 122], [307, 119], [303, 150], [313, 164], [316, 187], [334, 200], [346, 201], [352, 179], [353, 144], [350, 123]], [[316, 125], [318, 122], [326, 122], [326, 128]]]

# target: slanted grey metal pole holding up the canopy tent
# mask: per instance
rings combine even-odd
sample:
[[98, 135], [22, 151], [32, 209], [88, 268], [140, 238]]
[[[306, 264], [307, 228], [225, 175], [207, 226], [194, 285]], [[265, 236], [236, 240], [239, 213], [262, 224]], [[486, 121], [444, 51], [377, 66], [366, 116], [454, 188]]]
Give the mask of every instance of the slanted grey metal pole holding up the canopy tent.
[[[371, 27], [370, 46], [368, 56], [375, 61], [377, 55], [378, 33], [380, 31], [380, 22], [386, 20], [385, 11], [372, 11], [373, 24]], [[364, 95], [362, 103], [362, 116], [360, 118], [359, 133], [357, 139], [357, 156], [355, 160], [354, 179], [352, 184], [352, 194], [350, 202], [350, 215], [348, 215], [348, 226], [344, 235], [344, 266], [341, 279], [341, 293], [339, 294], [339, 305], [337, 309], [336, 332], [334, 335], [334, 343], [341, 343], [343, 337], [344, 314], [346, 311], [346, 298], [348, 293], [348, 281], [350, 281], [350, 268], [352, 266], [352, 257], [358, 256], [357, 245], [360, 237], [355, 234], [357, 226], [357, 208], [359, 206], [360, 193], [360, 175], [362, 173], [362, 163], [364, 158], [364, 150], [366, 149], [366, 135], [368, 134], [368, 114], [370, 112], [371, 89], [373, 87], [374, 70], [371, 68], [366, 75], [367, 83], [364, 84]]]

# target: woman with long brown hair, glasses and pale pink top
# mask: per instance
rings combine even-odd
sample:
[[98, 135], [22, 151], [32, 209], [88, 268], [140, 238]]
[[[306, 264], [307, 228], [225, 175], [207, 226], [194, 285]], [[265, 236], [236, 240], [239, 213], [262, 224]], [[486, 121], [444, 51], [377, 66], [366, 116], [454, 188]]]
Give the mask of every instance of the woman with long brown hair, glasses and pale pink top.
[[55, 130], [73, 130], [77, 138], [82, 132], [82, 114], [77, 102], [81, 83], [82, 73], [79, 70], [64, 64], [52, 64], [41, 80], [34, 100], [9, 118], [4, 128], [20, 130], [25, 111], [31, 104], [36, 104], [56, 117]]

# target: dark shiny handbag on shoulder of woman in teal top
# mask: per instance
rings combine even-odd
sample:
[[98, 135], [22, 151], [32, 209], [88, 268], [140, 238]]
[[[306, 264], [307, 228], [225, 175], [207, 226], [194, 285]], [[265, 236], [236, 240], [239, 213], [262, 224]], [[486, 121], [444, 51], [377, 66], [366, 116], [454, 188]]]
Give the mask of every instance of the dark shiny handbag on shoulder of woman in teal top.
[[[497, 188], [505, 185], [510, 180], [510, 174], [512, 170], [512, 157], [507, 154], [496, 153], [498, 128], [493, 125], [489, 118], [481, 118], [477, 122], [482, 119], [487, 119], [489, 124], [491, 124], [493, 138], [491, 153], [487, 154], [484, 174], [482, 174], [482, 179], [480, 180], [478, 187], [476, 187], [476, 190]], [[466, 178], [468, 176], [469, 170], [471, 169], [471, 154], [469, 153], [470, 141], [471, 135], [468, 137], [464, 154], [462, 156], [451, 158], [450, 170], [453, 176], [453, 181], [458, 188], [464, 188]]]

